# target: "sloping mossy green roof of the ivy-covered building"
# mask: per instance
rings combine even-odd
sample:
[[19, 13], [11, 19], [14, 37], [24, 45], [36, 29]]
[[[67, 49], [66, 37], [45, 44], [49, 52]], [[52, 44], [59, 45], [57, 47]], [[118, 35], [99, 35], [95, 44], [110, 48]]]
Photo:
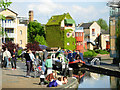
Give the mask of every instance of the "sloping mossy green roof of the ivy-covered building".
[[64, 13], [62, 15], [52, 16], [46, 25], [60, 25], [61, 21], [67, 17], [67, 19], [72, 19], [69, 13]]

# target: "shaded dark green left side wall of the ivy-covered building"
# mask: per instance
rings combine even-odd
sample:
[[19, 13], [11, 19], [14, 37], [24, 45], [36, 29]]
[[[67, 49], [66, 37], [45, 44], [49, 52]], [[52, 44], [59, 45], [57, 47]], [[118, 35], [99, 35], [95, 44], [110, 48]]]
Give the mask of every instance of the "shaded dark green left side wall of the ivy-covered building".
[[63, 32], [60, 26], [46, 26], [46, 41], [49, 47], [63, 48]]

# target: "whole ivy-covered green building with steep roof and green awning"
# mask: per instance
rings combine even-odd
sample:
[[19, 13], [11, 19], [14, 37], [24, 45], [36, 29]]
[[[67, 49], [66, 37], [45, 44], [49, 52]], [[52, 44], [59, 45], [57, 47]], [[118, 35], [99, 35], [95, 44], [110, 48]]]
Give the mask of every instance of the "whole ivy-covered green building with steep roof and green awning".
[[49, 47], [75, 49], [75, 21], [69, 13], [52, 16], [45, 25], [45, 29]]

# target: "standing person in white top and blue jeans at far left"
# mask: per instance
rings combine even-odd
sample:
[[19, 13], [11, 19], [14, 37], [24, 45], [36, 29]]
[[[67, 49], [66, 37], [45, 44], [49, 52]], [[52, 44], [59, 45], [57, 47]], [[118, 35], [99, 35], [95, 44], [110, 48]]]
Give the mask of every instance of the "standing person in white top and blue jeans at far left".
[[9, 58], [11, 58], [11, 53], [8, 51], [8, 49], [6, 48], [5, 51], [3, 52], [3, 66], [5, 68], [8, 68], [9, 67]]

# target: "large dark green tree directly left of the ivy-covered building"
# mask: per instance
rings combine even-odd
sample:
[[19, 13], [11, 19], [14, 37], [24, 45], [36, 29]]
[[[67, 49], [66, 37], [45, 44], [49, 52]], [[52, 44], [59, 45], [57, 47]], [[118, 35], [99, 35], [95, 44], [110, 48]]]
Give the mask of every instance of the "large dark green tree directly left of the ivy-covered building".
[[[39, 36], [43, 36], [45, 38], [44, 27], [41, 26], [38, 22], [29, 22], [28, 24], [28, 42], [34, 42], [35, 38]], [[37, 37], [36, 37], [37, 36]], [[38, 39], [37, 39], [38, 41]], [[38, 41], [40, 43], [40, 41]]]

